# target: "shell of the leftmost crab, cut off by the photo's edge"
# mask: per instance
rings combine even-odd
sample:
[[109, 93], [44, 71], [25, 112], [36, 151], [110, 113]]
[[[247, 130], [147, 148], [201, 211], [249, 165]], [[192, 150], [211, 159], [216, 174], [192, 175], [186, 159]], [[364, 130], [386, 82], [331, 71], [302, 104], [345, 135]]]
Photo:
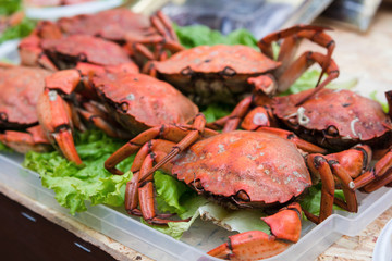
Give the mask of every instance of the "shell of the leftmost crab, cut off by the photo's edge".
[[0, 69], [0, 129], [23, 129], [37, 124], [36, 104], [50, 71], [14, 66]]

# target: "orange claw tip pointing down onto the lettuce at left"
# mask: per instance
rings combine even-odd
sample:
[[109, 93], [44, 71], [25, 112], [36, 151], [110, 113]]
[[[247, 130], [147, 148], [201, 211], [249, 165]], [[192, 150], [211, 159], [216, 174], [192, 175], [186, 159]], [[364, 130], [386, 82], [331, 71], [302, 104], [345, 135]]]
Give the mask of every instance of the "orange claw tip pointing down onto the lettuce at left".
[[53, 138], [57, 145], [60, 147], [61, 152], [69, 161], [73, 161], [77, 165], [83, 164], [81, 158], [77, 154], [70, 129], [60, 129], [59, 133], [53, 134]]

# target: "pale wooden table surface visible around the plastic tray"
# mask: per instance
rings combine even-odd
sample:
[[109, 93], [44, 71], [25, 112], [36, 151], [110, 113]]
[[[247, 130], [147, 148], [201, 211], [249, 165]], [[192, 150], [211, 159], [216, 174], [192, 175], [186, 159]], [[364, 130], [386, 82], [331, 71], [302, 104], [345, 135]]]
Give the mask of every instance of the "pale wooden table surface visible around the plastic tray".
[[[378, 98], [383, 91], [391, 89], [392, 77], [392, 4], [383, 4], [377, 13], [372, 25], [366, 34], [358, 34], [330, 21], [317, 20], [315, 24], [329, 25], [335, 29], [329, 32], [336, 42], [333, 54], [341, 69], [341, 78], [357, 78], [357, 88], [363, 94], [369, 89], [378, 90]], [[305, 42], [302, 50], [308, 48], [320, 50], [313, 44]], [[324, 51], [324, 50], [320, 50]], [[369, 88], [368, 86], [371, 86]], [[133, 249], [89, 228], [88, 226], [59, 213], [0, 183], [0, 191], [9, 198], [41, 214], [51, 222], [69, 229], [82, 239], [89, 241], [110, 253], [118, 260], [151, 260]], [[371, 260], [372, 251], [382, 227], [392, 217], [392, 208], [369, 224], [355, 237], [343, 236], [328, 248], [317, 260]]]

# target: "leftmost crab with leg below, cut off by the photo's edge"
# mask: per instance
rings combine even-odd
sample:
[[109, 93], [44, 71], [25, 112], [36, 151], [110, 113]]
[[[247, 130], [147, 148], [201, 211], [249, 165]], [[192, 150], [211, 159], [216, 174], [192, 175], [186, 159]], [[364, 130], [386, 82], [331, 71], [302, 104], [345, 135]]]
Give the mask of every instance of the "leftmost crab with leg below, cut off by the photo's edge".
[[51, 72], [0, 64], [0, 141], [21, 153], [47, 151], [49, 140], [38, 125], [36, 104]]

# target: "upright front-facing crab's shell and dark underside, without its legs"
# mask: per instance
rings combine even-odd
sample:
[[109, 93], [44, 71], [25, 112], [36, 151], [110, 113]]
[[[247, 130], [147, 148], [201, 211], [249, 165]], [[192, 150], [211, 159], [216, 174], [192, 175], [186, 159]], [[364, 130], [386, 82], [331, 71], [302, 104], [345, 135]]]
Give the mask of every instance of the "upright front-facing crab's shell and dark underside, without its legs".
[[247, 78], [280, 65], [246, 46], [199, 46], [155, 62], [160, 77], [182, 90], [197, 104], [236, 104], [250, 92]]

